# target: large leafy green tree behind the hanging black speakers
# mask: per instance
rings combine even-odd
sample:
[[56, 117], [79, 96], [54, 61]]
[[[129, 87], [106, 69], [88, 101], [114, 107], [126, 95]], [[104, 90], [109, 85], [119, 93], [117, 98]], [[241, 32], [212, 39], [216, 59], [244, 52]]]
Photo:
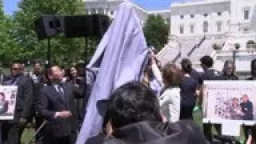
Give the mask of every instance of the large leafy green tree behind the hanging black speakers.
[[[42, 14], [75, 15], [85, 12], [81, 0], [22, 0], [14, 14], [12, 36], [21, 46], [25, 59], [46, 59], [47, 42], [38, 41], [34, 21]], [[51, 40], [53, 62], [66, 65], [84, 58], [83, 38], [53, 38]]]

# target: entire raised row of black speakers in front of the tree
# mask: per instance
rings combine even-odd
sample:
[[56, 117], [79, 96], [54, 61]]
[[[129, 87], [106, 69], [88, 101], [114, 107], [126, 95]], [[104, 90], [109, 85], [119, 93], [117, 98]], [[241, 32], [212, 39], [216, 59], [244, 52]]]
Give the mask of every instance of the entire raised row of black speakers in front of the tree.
[[38, 39], [50, 38], [63, 33], [66, 38], [92, 37], [102, 35], [110, 26], [106, 15], [55, 16], [43, 15], [35, 22]]

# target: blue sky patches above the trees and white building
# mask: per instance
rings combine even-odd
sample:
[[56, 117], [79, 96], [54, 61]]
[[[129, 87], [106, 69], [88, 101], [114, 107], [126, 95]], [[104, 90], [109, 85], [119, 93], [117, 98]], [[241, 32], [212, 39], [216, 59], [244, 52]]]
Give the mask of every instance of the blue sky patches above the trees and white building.
[[[4, 10], [6, 14], [13, 14], [18, 10], [18, 1], [20, 0], [4, 0]], [[163, 10], [170, 8], [172, 2], [185, 2], [194, 0], [132, 0], [132, 2], [142, 6], [146, 10]]]

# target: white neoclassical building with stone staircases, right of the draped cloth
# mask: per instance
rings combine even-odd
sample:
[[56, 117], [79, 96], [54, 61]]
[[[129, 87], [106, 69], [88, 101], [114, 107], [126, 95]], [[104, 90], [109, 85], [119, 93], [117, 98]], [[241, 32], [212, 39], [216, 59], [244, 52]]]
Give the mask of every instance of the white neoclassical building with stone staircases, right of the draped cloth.
[[170, 40], [159, 58], [164, 62], [190, 58], [199, 69], [199, 59], [207, 54], [214, 58], [214, 68], [220, 71], [226, 60], [235, 59], [238, 74], [245, 78], [250, 74], [250, 61], [256, 58], [255, 45], [248, 45], [256, 40], [255, 22], [255, 0], [173, 3]]

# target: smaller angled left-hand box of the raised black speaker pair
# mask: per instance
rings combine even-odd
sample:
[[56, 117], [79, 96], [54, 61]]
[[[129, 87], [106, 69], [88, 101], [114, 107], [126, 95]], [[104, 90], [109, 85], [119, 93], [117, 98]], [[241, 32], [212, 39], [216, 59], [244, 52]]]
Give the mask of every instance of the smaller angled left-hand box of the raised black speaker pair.
[[64, 32], [64, 16], [42, 15], [34, 25], [39, 40], [50, 38]]

